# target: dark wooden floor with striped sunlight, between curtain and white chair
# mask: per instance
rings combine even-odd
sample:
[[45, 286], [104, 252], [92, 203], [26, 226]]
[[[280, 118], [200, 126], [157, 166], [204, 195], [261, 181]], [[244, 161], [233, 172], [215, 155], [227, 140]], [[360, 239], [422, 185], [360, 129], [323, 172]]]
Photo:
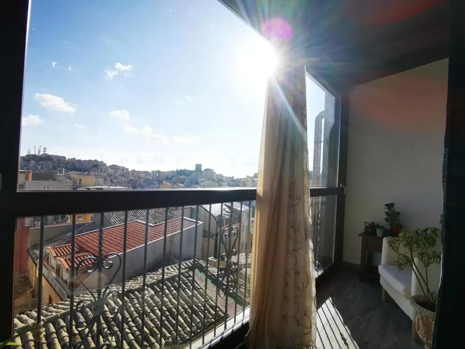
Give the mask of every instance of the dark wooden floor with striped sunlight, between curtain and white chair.
[[321, 349], [420, 349], [412, 321], [379, 283], [359, 282], [351, 269], [334, 272], [317, 287], [317, 347]]

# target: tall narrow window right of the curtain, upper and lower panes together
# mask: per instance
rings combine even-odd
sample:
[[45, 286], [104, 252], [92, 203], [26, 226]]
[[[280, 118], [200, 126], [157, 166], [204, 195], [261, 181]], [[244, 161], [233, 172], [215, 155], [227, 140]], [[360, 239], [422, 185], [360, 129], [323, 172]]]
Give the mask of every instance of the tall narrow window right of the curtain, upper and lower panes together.
[[[318, 273], [335, 260], [335, 234], [339, 184], [341, 97], [324, 86], [316, 74], [306, 73], [307, 141], [313, 253]], [[323, 81], [322, 81], [323, 82]]]

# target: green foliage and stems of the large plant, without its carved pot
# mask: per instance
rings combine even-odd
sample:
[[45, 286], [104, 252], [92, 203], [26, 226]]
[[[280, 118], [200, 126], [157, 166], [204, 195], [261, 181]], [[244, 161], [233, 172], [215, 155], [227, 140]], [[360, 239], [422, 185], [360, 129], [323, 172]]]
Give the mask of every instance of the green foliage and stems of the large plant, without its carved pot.
[[[421, 291], [426, 299], [426, 309], [436, 311], [436, 292], [431, 291], [428, 285], [428, 268], [432, 264], [441, 262], [441, 254], [436, 251], [434, 247], [438, 240], [440, 229], [439, 228], [425, 228], [416, 229], [413, 231], [401, 231], [397, 237], [388, 241], [388, 245], [392, 250], [397, 253], [398, 259], [395, 262], [399, 271], [410, 267], [417, 278]], [[399, 248], [404, 246], [407, 252], [402, 253]], [[423, 275], [417, 268], [415, 258], [418, 257], [419, 261], [425, 266], [425, 275]]]

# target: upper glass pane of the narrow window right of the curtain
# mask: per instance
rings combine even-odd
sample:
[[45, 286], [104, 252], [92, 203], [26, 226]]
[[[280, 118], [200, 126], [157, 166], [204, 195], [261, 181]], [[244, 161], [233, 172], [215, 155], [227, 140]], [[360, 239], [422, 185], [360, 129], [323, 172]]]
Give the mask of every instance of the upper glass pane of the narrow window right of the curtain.
[[310, 187], [337, 187], [339, 154], [339, 97], [306, 74], [308, 165]]

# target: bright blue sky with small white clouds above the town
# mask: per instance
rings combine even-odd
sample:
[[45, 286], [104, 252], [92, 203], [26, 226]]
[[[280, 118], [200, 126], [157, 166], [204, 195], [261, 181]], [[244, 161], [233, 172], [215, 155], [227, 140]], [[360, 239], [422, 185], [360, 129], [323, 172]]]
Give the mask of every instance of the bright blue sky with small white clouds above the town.
[[253, 175], [270, 53], [217, 0], [33, 1], [21, 154]]

